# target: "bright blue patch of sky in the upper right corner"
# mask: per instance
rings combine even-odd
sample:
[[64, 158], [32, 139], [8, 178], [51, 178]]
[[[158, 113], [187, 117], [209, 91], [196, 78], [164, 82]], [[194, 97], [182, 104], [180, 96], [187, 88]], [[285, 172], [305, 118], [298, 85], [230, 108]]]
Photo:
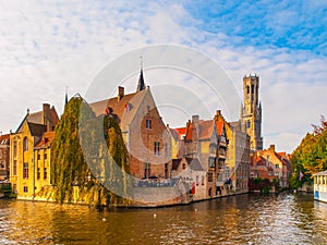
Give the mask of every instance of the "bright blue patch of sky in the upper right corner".
[[198, 28], [223, 33], [231, 38], [231, 45], [326, 56], [324, 1], [192, 1], [184, 8], [198, 20]]

